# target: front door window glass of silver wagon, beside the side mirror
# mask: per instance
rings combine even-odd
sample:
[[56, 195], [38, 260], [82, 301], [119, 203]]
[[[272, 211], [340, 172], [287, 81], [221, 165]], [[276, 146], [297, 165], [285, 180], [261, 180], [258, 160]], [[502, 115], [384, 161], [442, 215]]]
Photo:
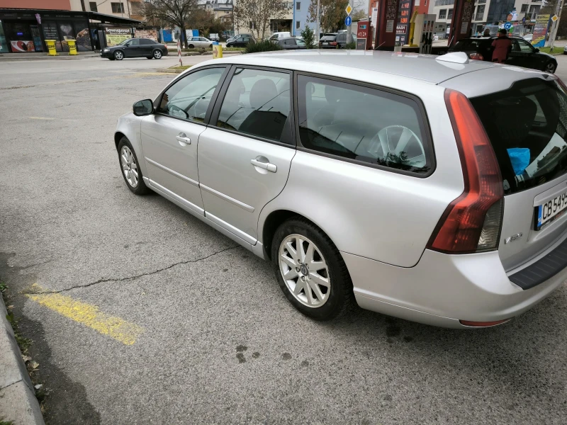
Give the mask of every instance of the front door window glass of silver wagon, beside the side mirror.
[[158, 113], [202, 123], [225, 68], [202, 69], [176, 81], [162, 96]]

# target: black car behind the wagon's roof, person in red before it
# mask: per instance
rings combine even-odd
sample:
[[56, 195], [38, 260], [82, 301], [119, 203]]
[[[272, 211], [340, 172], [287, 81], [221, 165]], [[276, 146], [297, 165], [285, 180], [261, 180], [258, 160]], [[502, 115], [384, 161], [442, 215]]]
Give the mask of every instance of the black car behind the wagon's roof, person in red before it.
[[[465, 52], [468, 57], [476, 60], [492, 62], [492, 42], [496, 37], [471, 37], [459, 40], [449, 49], [449, 52]], [[506, 64], [517, 67], [539, 69], [553, 74], [557, 69], [557, 60], [547, 53], [540, 52], [529, 42], [520, 37], [510, 37], [512, 52], [508, 55]]]

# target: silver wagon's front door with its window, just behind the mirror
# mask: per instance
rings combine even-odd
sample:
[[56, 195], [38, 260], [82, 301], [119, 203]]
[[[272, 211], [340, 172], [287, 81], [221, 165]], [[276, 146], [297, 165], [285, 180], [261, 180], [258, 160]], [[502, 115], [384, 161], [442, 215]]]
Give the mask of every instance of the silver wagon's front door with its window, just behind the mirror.
[[197, 145], [225, 72], [226, 67], [210, 67], [175, 81], [141, 124], [150, 186], [201, 215]]

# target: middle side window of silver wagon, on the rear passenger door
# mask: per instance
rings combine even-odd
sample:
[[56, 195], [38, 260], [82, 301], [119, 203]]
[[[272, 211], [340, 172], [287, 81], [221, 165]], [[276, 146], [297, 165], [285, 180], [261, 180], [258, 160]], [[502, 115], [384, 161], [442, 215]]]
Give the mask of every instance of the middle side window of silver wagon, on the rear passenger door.
[[290, 111], [290, 74], [237, 68], [218, 127], [279, 142]]

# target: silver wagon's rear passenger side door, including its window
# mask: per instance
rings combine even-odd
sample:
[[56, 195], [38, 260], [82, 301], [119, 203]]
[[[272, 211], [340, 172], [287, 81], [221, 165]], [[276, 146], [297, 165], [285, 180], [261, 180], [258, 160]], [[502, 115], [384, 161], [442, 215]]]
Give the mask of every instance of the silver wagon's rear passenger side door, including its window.
[[291, 72], [232, 67], [199, 138], [205, 215], [249, 244], [258, 239], [262, 208], [286, 186], [296, 154], [290, 88]]

